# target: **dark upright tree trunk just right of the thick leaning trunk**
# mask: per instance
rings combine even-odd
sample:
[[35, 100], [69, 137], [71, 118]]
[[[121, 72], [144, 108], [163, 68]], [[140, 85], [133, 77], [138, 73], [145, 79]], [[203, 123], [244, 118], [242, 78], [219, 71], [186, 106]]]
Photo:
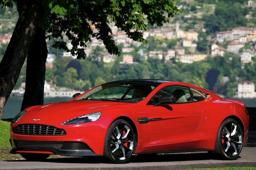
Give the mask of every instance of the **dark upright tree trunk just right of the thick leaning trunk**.
[[27, 57], [26, 88], [20, 111], [30, 106], [44, 104], [46, 58], [45, 31], [42, 28], [38, 28]]

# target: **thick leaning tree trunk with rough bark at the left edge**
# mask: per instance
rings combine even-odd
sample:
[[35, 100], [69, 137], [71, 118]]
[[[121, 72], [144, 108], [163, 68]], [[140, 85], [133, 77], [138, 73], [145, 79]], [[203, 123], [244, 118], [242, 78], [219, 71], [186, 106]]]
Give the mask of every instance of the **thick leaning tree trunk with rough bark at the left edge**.
[[29, 0], [23, 6], [12, 38], [0, 63], [0, 117], [34, 40], [42, 16], [41, 6], [41, 0]]

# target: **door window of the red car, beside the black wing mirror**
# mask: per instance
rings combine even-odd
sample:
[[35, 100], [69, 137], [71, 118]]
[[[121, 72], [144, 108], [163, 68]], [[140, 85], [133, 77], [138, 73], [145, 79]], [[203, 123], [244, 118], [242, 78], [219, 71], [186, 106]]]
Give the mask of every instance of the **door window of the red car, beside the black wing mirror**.
[[181, 86], [169, 86], [161, 89], [155, 94], [148, 104], [157, 104], [160, 98], [164, 95], [170, 95], [175, 97], [174, 103], [187, 103], [192, 102], [192, 97], [190, 96], [189, 88]]

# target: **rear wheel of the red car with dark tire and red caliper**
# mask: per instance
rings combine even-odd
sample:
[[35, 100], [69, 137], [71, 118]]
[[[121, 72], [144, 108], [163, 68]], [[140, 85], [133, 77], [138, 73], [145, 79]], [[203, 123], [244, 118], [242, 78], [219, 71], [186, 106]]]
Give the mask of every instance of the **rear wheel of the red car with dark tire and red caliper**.
[[244, 132], [239, 123], [234, 119], [226, 119], [219, 127], [213, 153], [223, 159], [237, 159], [242, 150], [243, 139]]

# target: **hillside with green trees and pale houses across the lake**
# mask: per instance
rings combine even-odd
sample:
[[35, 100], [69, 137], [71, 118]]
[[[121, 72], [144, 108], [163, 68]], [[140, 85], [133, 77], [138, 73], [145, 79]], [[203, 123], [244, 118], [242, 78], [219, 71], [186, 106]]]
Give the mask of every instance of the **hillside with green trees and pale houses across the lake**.
[[[227, 97], [236, 95], [240, 82], [256, 83], [255, 1], [176, 0], [176, 4], [181, 12], [170, 23], [162, 28], [148, 25], [147, 44], [131, 41], [110, 24], [119, 57], [108, 54], [99, 40], [88, 44], [87, 58], [81, 60], [47, 41], [47, 82], [56, 89], [84, 91], [118, 79], [169, 79]], [[0, 60], [17, 18], [15, 8], [0, 10]], [[22, 68], [15, 88], [23, 87], [25, 78]]]

